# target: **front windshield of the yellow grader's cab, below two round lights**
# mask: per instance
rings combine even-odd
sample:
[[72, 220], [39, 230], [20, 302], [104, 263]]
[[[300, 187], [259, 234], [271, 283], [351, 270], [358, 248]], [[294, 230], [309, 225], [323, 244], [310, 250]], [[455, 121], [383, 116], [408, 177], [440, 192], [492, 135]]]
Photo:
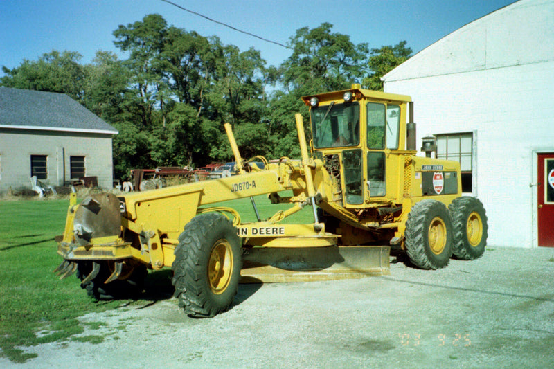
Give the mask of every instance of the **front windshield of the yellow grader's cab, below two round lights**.
[[312, 107], [314, 147], [356, 146], [359, 144], [359, 104]]

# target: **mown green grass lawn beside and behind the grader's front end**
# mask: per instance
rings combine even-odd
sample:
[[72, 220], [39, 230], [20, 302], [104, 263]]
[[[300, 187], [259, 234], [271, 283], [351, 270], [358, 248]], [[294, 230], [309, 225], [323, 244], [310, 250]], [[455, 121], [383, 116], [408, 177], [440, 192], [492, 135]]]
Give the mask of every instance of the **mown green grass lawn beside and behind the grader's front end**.
[[[262, 219], [290, 206], [271, 205], [265, 196], [256, 197], [256, 204]], [[68, 205], [69, 200], [0, 200], [0, 356], [16, 363], [35, 357], [24, 351], [26, 346], [87, 340], [72, 337], [84, 332], [77, 318], [122, 304], [121, 300], [97, 302], [81, 289], [75, 276], [60, 280], [52, 273], [62, 261], [54, 237], [63, 233]], [[250, 199], [217, 205], [238, 210], [242, 222], [256, 221]], [[306, 207], [285, 222], [311, 223], [312, 210]], [[152, 274], [149, 280], [155, 283], [157, 277]], [[91, 336], [89, 341], [101, 339]]]

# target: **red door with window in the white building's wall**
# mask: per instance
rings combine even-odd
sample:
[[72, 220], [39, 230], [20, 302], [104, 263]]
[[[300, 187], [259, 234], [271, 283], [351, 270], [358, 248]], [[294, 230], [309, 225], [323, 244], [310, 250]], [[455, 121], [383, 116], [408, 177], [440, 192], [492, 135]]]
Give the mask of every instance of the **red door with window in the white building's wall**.
[[539, 246], [554, 247], [554, 154], [539, 154], [538, 166]]

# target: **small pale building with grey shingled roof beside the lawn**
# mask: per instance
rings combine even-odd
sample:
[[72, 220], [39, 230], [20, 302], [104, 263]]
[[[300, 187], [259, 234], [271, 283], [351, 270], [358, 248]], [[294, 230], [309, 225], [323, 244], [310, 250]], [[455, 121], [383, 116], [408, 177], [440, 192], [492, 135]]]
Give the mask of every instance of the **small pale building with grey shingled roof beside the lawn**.
[[111, 138], [117, 130], [62, 93], [0, 87], [0, 193], [80, 177], [113, 185]]

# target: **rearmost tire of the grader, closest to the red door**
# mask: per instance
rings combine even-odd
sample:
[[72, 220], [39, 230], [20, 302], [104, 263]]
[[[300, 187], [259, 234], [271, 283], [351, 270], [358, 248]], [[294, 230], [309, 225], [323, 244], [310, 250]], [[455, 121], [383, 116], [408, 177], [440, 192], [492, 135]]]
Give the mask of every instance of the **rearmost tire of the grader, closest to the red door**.
[[458, 197], [448, 209], [454, 227], [452, 253], [461, 260], [481, 258], [488, 237], [487, 215], [481, 201], [475, 197]]

